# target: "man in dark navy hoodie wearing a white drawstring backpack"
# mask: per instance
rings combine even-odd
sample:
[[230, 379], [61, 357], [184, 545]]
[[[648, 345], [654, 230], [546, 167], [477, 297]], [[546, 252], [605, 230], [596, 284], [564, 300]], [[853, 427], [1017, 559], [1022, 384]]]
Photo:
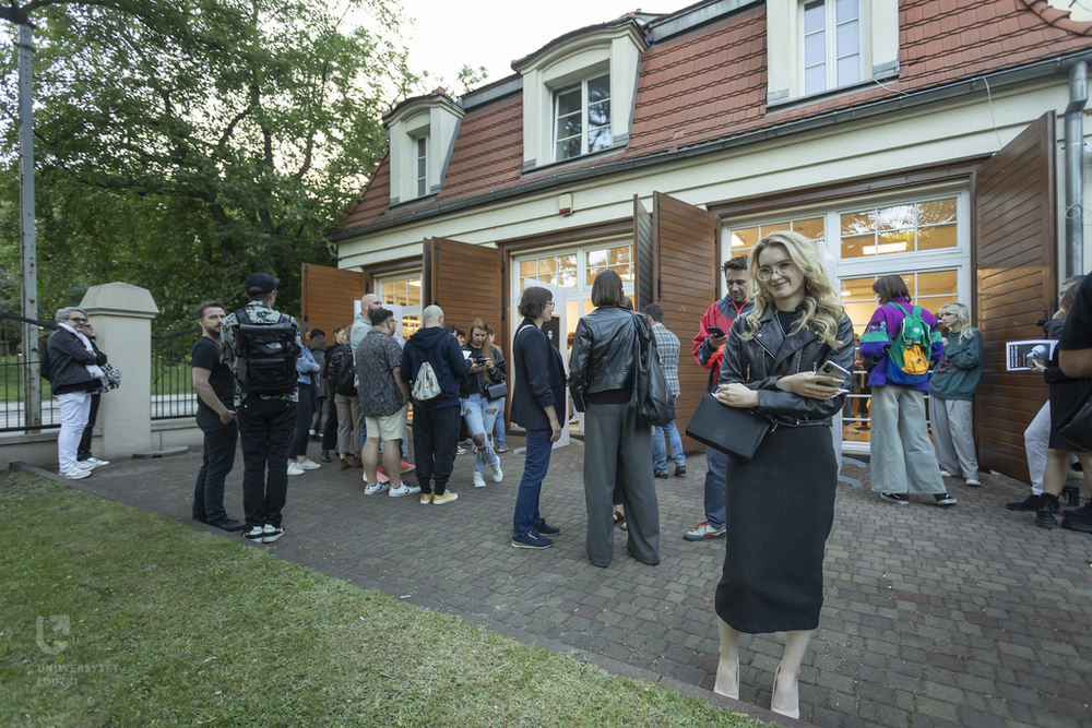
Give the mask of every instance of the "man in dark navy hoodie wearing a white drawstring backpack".
[[459, 443], [459, 385], [470, 373], [471, 362], [463, 357], [459, 342], [443, 330], [443, 311], [439, 306], [429, 306], [422, 312], [420, 330], [402, 349], [400, 370], [403, 377], [408, 374], [411, 387], [426, 361], [432, 367], [447, 397], [428, 409], [414, 401], [414, 463], [422, 505], [440, 505], [459, 498], [447, 490], [447, 486]]

